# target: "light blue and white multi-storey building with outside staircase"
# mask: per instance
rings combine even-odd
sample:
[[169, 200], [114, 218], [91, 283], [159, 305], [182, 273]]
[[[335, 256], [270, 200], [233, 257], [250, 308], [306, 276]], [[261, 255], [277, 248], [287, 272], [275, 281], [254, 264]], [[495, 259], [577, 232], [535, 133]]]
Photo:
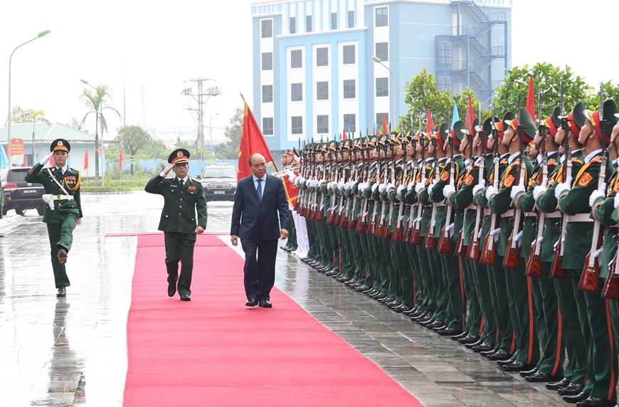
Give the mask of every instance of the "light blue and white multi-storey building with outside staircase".
[[270, 149], [397, 120], [424, 67], [440, 89], [490, 100], [511, 67], [512, 2], [255, 1], [253, 114]]

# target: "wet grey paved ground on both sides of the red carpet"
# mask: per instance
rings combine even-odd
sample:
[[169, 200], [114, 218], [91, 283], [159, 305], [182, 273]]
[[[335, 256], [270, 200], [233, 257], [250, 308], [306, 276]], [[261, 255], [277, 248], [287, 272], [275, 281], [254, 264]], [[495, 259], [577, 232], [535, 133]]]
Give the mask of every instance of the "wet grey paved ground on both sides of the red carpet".
[[[0, 406], [122, 405], [137, 238], [105, 235], [157, 231], [163, 199], [85, 194], [82, 204], [65, 298], [55, 297], [42, 218], [0, 219]], [[232, 203], [208, 203], [207, 231], [228, 235], [231, 211]], [[569, 406], [282, 250], [275, 285], [425, 406]], [[346, 378], [334, 368], [337, 386]]]

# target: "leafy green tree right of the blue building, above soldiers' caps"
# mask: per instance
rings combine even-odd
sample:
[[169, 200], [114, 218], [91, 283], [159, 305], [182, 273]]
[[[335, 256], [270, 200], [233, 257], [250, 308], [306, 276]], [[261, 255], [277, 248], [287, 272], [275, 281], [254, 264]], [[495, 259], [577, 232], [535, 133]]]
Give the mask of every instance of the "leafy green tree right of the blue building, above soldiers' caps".
[[[516, 66], [507, 70], [503, 85], [496, 89], [498, 96], [494, 98], [497, 112], [518, 108], [518, 95], [520, 95], [521, 107], [527, 105], [527, 91], [529, 78], [533, 76], [535, 91], [535, 115], [539, 119], [537, 93], [541, 90], [541, 117], [549, 117], [555, 106], [561, 100], [561, 81], [564, 82], [564, 107], [566, 112], [576, 105], [576, 102], [588, 100], [587, 93], [592, 88], [585, 83], [580, 76], [574, 76], [571, 68], [566, 66], [564, 70], [555, 67], [551, 63], [536, 63], [532, 68], [529, 64], [522, 68]], [[500, 107], [500, 108], [499, 108]], [[497, 113], [498, 115], [499, 113]]]

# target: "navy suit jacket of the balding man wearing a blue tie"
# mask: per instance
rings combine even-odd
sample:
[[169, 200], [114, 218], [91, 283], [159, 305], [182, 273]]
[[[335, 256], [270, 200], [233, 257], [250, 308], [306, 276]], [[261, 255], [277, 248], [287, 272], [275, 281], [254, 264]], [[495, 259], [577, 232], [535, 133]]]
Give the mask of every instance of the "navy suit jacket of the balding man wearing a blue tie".
[[288, 201], [281, 179], [267, 175], [262, 202], [258, 199], [253, 176], [246, 176], [238, 181], [232, 208], [231, 235], [248, 240], [273, 240], [280, 238], [280, 229], [287, 227]]

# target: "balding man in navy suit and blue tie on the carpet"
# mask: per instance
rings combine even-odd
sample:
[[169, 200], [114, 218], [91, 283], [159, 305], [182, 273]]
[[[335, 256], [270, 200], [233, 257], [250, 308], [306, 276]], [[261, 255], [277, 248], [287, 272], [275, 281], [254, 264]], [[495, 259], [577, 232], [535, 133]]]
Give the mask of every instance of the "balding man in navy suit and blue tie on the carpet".
[[[238, 181], [230, 234], [232, 244], [245, 252], [245, 294], [248, 307], [270, 308], [275, 284], [277, 239], [288, 237], [288, 201], [282, 181], [267, 174], [262, 154], [249, 157], [252, 175]], [[277, 213], [280, 214], [277, 223]], [[258, 255], [258, 256], [256, 256]]]

